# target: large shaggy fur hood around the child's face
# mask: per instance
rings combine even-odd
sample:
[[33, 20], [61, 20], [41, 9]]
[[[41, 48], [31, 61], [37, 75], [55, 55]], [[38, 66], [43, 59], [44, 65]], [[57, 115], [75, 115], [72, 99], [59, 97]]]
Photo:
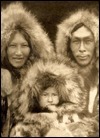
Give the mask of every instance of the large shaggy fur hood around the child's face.
[[70, 68], [69, 65], [66, 67], [59, 61], [45, 62], [40, 60], [29, 69], [21, 84], [19, 112], [24, 115], [26, 112], [31, 112], [33, 108], [36, 109], [38, 95], [41, 90], [48, 87], [55, 87], [60, 97], [60, 103], [69, 101], [69, 99], [76, 103], [78, 101], [75, 100], [75, 96], [79, 95], [82, 96], [83, 100], [81, 101], [84, 101], [86, 93], [84, 80], [75, 69]]

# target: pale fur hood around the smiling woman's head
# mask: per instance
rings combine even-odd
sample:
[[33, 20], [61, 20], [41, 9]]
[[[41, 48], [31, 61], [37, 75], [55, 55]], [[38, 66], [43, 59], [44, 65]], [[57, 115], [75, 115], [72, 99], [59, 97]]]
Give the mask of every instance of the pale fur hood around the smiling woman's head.
[[41, 24], [30, 11], [23, 7], [22, 3], [14, 2], [8, 5], [7, 8], [2, 9], [1, 12], [2, 61], [10, 37], [17, 27], [23, 28], [30, 36], [33, 52], [37, 53], [40, 58], [50, 58], [53, 56], [53, 44]]

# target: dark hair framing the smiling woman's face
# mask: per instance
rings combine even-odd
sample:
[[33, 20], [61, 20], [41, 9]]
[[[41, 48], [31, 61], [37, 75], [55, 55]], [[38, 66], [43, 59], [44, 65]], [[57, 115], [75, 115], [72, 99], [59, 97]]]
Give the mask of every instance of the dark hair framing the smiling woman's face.
[[[13, 33], [11, 34], [10, 40], [7, 44], [7, 47], [9, 46], [10, 42], [12, 41], [12, 39], [14, 38], [14, 36], [17, 32], [21, 33], [24, 36], [24, 38], [26, 39], [26, 41], [28, 42], [28, 45], [30, 47], [30, 54], [29, 54], [27, 61], [34, 63], [35, 59], [39, 58], [39, 54], [36, 52], [35, 45], [32, 43], [30, 35], [28, 35], [28, 33], [23, 28], [21, 28], [20, 26], [17, 26], [15, 28], [15, 30], [13, 31]], [[21, 75], [20, 75], [19, 70], [17, 68], [13, 67], [8, 60], [7, 47], [5, 48], [5, 56], [4, 56], [4, 59], [1, 63], [2, 67], [5, 69], [8, 69], [11, 72], [12, 77], [14, 76], [13, 78], [16, 78], [16, 77], [20, 78]], [[28, 64], [28, 62], [26, 62], [25, 65]]]

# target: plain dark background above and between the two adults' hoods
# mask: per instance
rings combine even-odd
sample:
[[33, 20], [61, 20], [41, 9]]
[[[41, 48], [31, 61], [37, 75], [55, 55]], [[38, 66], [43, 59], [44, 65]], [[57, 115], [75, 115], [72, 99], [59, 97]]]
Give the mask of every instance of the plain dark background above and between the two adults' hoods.
[[[15, 1], [1, 1], [1, 8]], [[54, 43], [57, 24], [79, 8], [92, 9], [98, 14], [99, 1], [21, 1], [38, 18]]]

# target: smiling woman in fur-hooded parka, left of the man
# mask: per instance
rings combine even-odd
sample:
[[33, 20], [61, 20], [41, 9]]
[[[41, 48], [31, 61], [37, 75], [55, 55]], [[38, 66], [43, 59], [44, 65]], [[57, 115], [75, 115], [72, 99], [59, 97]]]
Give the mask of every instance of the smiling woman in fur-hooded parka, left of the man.
[[[30, 65], [38, 59], [53, 56], [53, 45], [47, 34], [34, 15], [20, 2], [2, 9], [1, 64], [3, 71], [7, 69], [11, 74], [13, 90], [9, 96], [10, 102], [16, 99], [15, 89], [19, 87]], [[6, 90], [6, 95], [8, 93]]]

